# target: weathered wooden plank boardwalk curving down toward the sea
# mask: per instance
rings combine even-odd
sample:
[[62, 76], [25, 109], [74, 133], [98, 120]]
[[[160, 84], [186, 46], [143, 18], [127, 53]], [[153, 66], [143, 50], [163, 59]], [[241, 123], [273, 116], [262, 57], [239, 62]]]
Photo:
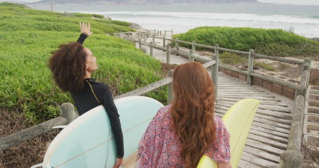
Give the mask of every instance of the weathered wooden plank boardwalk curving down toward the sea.
[[[150, 51], [150, 48], [143, 46]], [[166, 62], [166, 52], [154, 48], [154, 56]], [[180, 56], [171, 55], [171, 64], [187, 62]], [[252, 123], [246, 146], [238, 168], [278, 168], [280, 154], [286, 151], [290, 125], [291, 109], [287, 103], [271, 94], [269, 91], [248, 85], [246, 82], [218, 73], [218, 101], [215, 114], [222, 117], [237, 101], [244, 98], [261, 100]], [[134, 168], [134, 160], [125, 164]]]

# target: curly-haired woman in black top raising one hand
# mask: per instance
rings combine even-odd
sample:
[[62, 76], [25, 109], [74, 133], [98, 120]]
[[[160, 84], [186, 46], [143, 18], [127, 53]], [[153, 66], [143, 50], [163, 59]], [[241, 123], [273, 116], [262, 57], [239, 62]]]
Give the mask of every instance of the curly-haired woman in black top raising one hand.
[[114, 104], [109, 86], [96, 82], [91, 74], [98, 69], [92, 52], [82, 46], [84, 40], [92, 34], [90, 23], [80, 23], [81, 35], [77, 42], [62, 44], [52, 53], [49, 69], [55, 83], [63, 91], [69, 91], [79, 115], [103, 105], [106, 109], [114, 133], [117, 160], [114, 168], [123, 164], [124, 147], [120, 116]]

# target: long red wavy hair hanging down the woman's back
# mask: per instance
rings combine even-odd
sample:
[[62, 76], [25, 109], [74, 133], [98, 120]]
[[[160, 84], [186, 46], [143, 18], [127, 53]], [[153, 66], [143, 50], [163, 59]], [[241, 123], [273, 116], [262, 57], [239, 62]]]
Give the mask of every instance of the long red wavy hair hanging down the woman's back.
[[181, 143], [185, 168], [195, 168], [216, 137], [215, 86], [203, 66], [189, 62], [173, 72], [172, 129]]

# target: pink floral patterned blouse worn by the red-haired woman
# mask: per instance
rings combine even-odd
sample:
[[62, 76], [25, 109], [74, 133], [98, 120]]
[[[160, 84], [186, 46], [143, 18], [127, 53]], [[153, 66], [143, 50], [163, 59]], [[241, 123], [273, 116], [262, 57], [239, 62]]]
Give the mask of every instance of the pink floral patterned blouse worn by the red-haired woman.
[[[175, 131], [169, 129], [173, 124], [169, 115], [170, 105], [159, 109], [145, 131], [138, 150], [136, 168], [181, 168], [180, 142]], [[229, 133], [223, 121], [214, 115], [216, 139], [205, 155], [217, 163], [230, 160]]]

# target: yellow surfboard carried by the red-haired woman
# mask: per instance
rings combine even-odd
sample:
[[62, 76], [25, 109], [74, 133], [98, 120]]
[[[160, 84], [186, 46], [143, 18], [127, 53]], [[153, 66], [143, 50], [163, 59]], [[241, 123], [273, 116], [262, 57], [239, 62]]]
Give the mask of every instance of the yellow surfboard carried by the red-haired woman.
[[[259, 100], [251, 98], [240, 100], [232, 105], [222, 118], [230, 134], [230, 163], [232, 168], [237, 168], [259, 102]], [[218, 166], [216, 162], [204, 155], [197, 168], [218, 168]]]

